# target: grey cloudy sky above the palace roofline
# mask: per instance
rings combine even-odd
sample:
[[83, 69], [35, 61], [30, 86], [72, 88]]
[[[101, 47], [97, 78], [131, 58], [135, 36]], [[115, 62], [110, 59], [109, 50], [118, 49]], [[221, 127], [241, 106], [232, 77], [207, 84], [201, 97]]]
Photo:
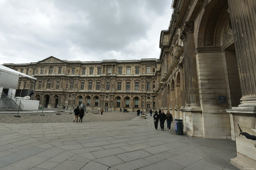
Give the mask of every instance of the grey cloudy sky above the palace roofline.
[[172, 0], [0, 0], [0, 64], [159, 58]]

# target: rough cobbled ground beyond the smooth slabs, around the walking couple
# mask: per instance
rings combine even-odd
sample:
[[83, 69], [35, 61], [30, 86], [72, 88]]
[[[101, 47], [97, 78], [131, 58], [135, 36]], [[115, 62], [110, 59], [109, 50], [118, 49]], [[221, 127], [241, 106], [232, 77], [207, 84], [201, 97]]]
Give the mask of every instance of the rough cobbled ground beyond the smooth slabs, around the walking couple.
[[[44, 113], [45, 116], [40, 116], [41, 113], [19, 113], [20, 118], [14, 117], [14, 115], [17, 115], [16, 113], [0, 114], [0, 123], [67, 123], [73, 122], [75, 118], [74, 112], [72, 114], [60, 112], [61, 115], [56, 115], [56, 113], [58, 112], [46, 112]], [[85, 113], [83, 122], [127, 121], [132, 120], [136, 116], [136, 112], [103, 112], [103, 115], [88, 112]]]

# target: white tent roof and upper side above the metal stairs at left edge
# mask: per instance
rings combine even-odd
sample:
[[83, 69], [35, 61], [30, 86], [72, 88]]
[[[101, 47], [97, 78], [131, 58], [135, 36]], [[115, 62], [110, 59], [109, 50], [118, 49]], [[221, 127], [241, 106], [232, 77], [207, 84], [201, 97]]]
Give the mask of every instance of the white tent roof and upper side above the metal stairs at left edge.
[[0, 65], [0, 87], [16, 89], [19, 83], [19, 76], [36, 80], [34, 77]]

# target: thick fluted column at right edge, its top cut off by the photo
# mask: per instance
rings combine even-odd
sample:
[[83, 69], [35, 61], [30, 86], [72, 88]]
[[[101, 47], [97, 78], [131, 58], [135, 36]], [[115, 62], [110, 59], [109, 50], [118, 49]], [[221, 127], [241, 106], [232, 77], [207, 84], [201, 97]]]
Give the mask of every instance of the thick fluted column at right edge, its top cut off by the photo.
[[228, 0], [242, 98], [239, 106], [256, 106], [256, 1]]

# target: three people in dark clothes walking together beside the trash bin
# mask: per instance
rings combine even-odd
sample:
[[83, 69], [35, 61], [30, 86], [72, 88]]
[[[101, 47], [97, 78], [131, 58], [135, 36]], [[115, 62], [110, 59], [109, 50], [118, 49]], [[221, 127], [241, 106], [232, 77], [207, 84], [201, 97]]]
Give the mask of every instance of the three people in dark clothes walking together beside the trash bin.
[[155, 124], [155, 130], [157, 130], [158, 128], [158, 122], [160, 122], [160, 128], [162, 131], [164, 131], [164, 128], [165, 128], [165, 120], [167, 120], [167, 129], [169, 131], [171, 131], [171, 123], [173, 121], [173, 116], [172, 114], [170, 113], [170, 111], [168, 110], [167, 113], [165, 114], [163, 112], [163, 110], [159, 110], [157, 112], [157, 110], [155, 111], [155, 114], [153, 115], [153, 118], [154, 118], [154, 124]]

